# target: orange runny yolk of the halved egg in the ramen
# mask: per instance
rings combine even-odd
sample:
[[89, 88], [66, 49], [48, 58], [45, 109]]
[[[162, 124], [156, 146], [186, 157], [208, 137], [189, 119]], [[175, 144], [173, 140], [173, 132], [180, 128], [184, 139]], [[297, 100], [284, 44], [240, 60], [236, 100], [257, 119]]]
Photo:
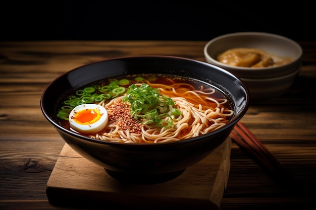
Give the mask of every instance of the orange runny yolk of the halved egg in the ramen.
[[74, 115], [73, 120], [76, 121], [78, 124], [92, 124], [98, 121], [101, 117], [101, 113], [97, 109], [83, 109]]

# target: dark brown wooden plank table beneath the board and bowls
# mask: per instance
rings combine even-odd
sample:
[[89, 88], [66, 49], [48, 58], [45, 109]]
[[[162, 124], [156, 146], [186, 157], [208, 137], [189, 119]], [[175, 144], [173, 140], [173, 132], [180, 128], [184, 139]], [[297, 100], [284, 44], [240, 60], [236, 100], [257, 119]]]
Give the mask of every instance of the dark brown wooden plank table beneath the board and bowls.
[[[50, 204], [45, 193], [65, 145], [40, 110], [40, 96], [52, 80], [77, 66], [119, 56], [205, 61], [206, 42], [0, 42], [0, 209], [72, 209]], [[290, 90], [273, 101], [250, 105], [241, 119], [294, 181], [280, 185], [233, 142], [221, 209], [303, 209], [316, 203], [316, 42], [299, 44], [303, 66]]]

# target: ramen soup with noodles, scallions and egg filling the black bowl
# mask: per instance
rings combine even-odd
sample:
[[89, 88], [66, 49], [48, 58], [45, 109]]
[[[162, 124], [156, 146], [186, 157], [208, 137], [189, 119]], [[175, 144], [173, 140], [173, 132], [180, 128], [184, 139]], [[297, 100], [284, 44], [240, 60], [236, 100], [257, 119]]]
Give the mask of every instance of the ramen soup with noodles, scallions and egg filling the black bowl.
[[[57, 116], [63, 127], [119, 143], [180, 141], [219, 129], [234, 115], [230, 99], [219, 89], [171, 75], [126, 75], [100, 80], [75, 90], [61, 101]], [[106, 111], [88, 108], [88, 104]], [[97, 125], [104, 127], [89, 132], [96, 119], [105, 115], [106, 122]], [[86, 128], [77, 129], [79, 126], [72, 126], [74, 122]]]

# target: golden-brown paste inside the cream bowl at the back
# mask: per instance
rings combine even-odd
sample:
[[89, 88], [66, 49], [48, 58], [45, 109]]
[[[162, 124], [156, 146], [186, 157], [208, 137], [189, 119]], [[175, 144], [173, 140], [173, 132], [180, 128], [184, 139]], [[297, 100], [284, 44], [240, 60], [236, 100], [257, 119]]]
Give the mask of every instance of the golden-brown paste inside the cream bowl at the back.
[[217, 61], [241, 67], [269, 67], [292, 61], [290, 57], [279, 57], [261, 49], [233, 48], [220, 53]]

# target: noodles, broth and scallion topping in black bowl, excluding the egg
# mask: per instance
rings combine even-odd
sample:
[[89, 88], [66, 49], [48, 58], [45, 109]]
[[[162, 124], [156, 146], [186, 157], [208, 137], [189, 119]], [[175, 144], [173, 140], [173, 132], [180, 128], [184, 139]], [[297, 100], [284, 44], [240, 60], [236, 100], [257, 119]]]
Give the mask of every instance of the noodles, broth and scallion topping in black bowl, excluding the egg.
[[[217, 130], [225, 126], [234, 115], [233, 105], [223, 92], [185, 77], [125, 76], [90, 87], [109, 91], [109, 88], [103, 87], [110, 87], [107, 83], [113, 84], [113, 81], [118, 84], [124, 81], [116, 87], [121, 92], [117, 90], [115, 97], [112, 95], [108, 99], [100, 98], [99, 101], [92, 102], [106, 108], [108, 123], [101, 131], [85, 134], [86, 136], [118, 143], [174, 142]], [[150, 91], [153, 94], [148, 94], [149, 98], [145, 98], [143, 93]], [[111, 91], [93, 94], [96, 97], [100, 94], [111, 95]], [[150, 100], [158, 101], [155, 105], [147, 105], [146, 101]], [[71, 129], [66, 121], [61, 120], [61, 123]]]

